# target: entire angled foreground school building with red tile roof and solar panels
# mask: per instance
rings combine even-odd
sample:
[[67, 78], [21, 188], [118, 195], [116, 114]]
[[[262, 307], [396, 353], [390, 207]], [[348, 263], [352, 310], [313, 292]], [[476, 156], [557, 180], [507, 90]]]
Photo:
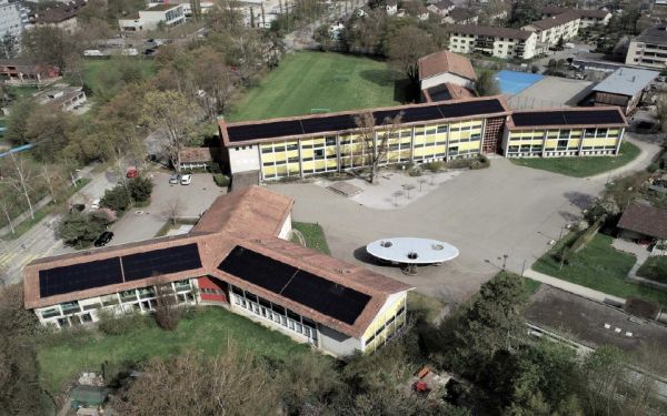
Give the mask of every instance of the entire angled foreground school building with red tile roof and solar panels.
[[173, 296], [335, 356], [375, 351], [406, 325], [412, 287], [287, 241], [292, 204], [251, 186], [219, 196], [188, 234], [37, 260], [23, 272], [26, 308], [67, 327]]

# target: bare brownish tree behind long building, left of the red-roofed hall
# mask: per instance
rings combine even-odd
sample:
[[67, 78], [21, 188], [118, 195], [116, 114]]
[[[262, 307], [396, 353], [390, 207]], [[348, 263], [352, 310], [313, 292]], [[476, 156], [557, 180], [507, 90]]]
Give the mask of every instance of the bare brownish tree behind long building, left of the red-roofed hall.
[[414, 82], [419, 78], [417, 60], [436, 51], [429, 34], [414, 26], [406, 26], [388, 34], [385, 54], [394, 61]]

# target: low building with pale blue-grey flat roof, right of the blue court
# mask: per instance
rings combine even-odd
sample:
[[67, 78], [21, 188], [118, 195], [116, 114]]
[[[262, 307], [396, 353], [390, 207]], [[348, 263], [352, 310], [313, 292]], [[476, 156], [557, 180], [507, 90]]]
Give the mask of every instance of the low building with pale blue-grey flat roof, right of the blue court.
[[645, 69], [619, 68], [593, 88], [594, 103], [620, 106], [629, 114], [639, 105], [644, 93], [659, 74]]

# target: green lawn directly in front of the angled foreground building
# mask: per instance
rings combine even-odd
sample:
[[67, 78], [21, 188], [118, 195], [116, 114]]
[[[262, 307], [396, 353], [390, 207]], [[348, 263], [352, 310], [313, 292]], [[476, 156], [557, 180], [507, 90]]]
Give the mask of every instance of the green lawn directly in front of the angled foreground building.
[[44, 387], [58, 392], [62, 383], [82, 371], [99, 372], [103, 362], [111, 366], [137, 364], [150, 357], [178, 355], [192, 348], [207, 355], [219, 354], [225, 352], [230, 339], [241, 352], [272, 359], [309, 354], [307, 345], [286, 335], [221, 307], [207, 306], [192, 318], [181, 319], [175, 332], [163, 331], [152, 321], [148, 327], [123, 335], [86, 332], [56, 345], [47, 344], [38, 351], [37, 357]]

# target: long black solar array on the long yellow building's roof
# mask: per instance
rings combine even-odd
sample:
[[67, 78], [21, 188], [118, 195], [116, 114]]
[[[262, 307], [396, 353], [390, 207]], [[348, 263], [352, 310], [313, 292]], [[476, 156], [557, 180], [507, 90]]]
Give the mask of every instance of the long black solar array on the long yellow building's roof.
[[[442, 120], [460, 116], [491, 114], [505, 112], [498, 99], [455, 102], [449, 104], [434, 103], [430, 105], [405, 106], [390, 110], [374, 111], [376, 125], [392, 120], [401, 114], [401, 122], [416, 123], [429, 120]], [[315, 134], [329, 131], [355, 129], [354, 114], [322, 114], [315, 118], [303, 118], [286, 121], [269, 121], [266, 123], [228, 125], [229, 141], [243, 142], [260, 139], [277, 139], [301, 134]]]

